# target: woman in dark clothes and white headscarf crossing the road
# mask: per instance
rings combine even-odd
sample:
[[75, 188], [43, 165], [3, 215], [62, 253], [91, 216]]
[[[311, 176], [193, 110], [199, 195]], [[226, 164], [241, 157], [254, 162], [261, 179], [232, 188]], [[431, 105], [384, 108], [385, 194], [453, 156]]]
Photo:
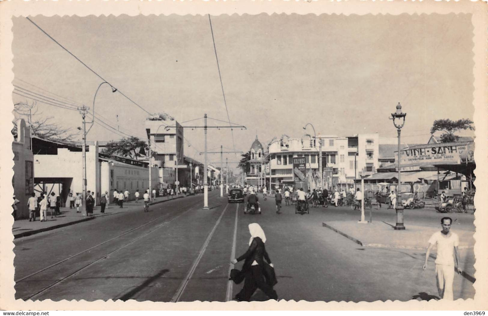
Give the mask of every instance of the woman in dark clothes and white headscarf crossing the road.
[[[266, 265], [273, 267], [268, 253], [264, 247], [266, 242], [266, 236], [264, 235], [263, 228], [258, 223], [249, 224], [249, 233], [251, 238], [249, 239], [249, 248], [241, 257], [232, 260], [232, 263], [236, 264], [238, 261], [245, 260], [243, 265], [243, 273], [246, 273], [244, 287], [239, 292], [235, 299], [249, 301], [256, 289], [260, 289], [271, 299], [278, 299], [276, 291], [265, 280]], [[264, 262], [264, 259], [267, 261]]]

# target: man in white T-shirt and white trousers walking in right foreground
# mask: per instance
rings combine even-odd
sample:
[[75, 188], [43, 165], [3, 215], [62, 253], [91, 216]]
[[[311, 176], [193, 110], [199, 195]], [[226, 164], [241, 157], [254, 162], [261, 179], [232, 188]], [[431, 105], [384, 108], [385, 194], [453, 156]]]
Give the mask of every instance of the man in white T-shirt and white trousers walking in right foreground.
[[[442, 230], [432, 234], [428, 240], [429, 245], [427, 248], [426, 260], [422, 267], [424, 270], [427, 269], [427, 260], [430, 250], [434, 245], [437, 245], [437, 258], [435, 259], [437, 290], [439, 291], [439, 296], [441, 298], [448, 300], [453, 300], [452, 283], [454, 281], [455, 266], [457, 266], [459, 274], [463, 273], [463, 270], [459, 267], [459, 237], [456, 233], [450, 231], [451, 223], [452, 219], [450, 217], [443, 217], [441, 219]], [[453, 257], [456, 258], [456, 265], [454, 265]]]

